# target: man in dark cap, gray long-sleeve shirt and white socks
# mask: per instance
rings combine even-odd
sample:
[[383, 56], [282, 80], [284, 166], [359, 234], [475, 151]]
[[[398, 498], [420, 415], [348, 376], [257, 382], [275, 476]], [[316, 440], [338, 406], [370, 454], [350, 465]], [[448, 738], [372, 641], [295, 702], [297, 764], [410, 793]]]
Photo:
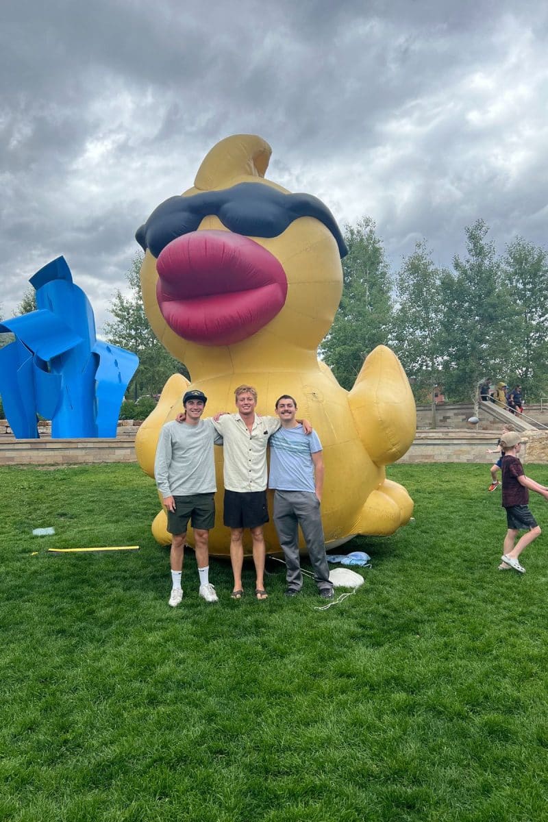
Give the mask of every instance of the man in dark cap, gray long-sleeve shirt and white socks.
[[215, 464], [214, 443], [223, 444], [223, 437], [215, 431], [210, 419], [200, 419], [207, 397], [202, 391], [187, 391], [182, 398], [186, 411], [184, 422], [163, 425], [160, 432], [154, 477], [168, 514], [168, 532], [172, 535], [171, 575], [172, 592], [169, 605], [176, 607], [182, 601], [182, 559], [191, 520], [200, 597], [208, 603], [218, 601], [209, 580], [210, 529], [215, 521]]

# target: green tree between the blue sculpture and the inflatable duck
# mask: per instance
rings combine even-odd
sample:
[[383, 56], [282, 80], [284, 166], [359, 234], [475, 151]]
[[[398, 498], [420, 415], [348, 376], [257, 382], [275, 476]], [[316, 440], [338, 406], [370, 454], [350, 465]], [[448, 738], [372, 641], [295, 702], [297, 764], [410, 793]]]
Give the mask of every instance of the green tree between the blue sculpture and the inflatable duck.
[[140, 292], [142, 261], [143, 255], [137, 253], [126, 275], [129, 295], [124, 296], [117, 289], [109, 307], [114, 319], [104, 324], [109, 343], [132, 351], [139, 357], [139, 367], [127, 387], [127, 394], [133, 395], [134, 399], [159, 394], [168, 377], [176, 372], [188, 377], [186, 368], [163, 348], [150, 328]]

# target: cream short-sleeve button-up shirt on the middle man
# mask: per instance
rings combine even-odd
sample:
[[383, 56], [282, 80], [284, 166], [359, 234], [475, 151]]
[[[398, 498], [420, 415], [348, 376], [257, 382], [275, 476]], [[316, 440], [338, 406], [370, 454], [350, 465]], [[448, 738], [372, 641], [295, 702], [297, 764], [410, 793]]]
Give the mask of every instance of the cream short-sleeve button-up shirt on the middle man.
[[278, 431], [278, 417], [258, 417], [251, 434], [239, 413], [227, 413], [213, 422], [223, 436], [224, 487], [227, 491], [265, 491], [267, 483], [266, 446], [270, 434]]

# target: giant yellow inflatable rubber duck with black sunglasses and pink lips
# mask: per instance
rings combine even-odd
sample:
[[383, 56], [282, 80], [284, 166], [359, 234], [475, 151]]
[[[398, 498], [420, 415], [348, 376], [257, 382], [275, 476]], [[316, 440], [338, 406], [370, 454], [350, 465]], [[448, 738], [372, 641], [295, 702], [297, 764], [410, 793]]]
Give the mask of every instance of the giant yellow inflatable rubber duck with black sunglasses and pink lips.
[[[182, 411], [189, 385], [207, 395], [205, 416], [234, 412], [233, 392], [242, 383], [256, 387], [259, 415], [273, 415], [279, 395], [289, 394], [324, 449], [327, 547], [357, 534], [388, 535], [412, 515], [408, 492], [385, 475], [385, 465], [405, 454], [415, 435], [412, 391], [385, 346], [369, 354], [350, 392], [318, 359], [341, 296], [347, 250], [320, 200], [265, 178], [270, 154], [259, 136], [219, 142], [194, 187], [164, 201], [136, 233], [145, 251], [140, 279], [150, 326], [191, 375], [191, 383], [174, 375], [164, 386], [140, 427], [137, 459], [153, 477], [159, 430]], [[210, 552], [228, 556], [223, 450], [215, 450], [219, 490]], [[153, 533], [159, 543], [170, 542], [163, 510]], [[265, 541], [268, 552], [279, 552], [272, 523]], [[244, 547], [251, 553], [251, 543]]]

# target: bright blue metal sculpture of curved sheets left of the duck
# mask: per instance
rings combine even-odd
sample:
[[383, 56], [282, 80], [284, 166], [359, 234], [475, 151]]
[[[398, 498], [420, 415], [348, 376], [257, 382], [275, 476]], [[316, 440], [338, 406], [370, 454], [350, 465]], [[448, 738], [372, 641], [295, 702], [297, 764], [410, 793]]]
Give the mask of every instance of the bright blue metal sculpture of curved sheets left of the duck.
[[95, 337], [90, 301], [72, 282], [65, 258], [30, 278], [38, 311], [0, 323], [14, 342], [0, 349], [0, 395], [18, 439], [38, 438], [37, 414], [52, 436], [116, 436], [120, 405], [136, 354]]

